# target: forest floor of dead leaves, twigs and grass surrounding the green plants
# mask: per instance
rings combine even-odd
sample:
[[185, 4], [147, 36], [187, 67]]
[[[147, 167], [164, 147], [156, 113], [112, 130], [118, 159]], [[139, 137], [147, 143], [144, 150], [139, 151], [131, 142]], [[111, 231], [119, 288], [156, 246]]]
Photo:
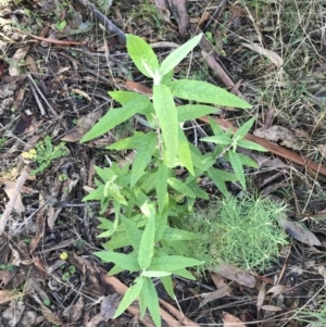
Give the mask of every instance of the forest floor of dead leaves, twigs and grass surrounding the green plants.
[[[200, 32], [204, 40], [174, 76], [209, 81], [252, 105], [220, 108], [215, 116], [235, 127], [256, 117], [249, 137], [268, 152], [251, 151], [258, 168], [246, 169], [247, 192], [287, 206], [288, 243], [264, 268], [225, 263], [193, 272], [197, 281], [173, 278], [176, 300], [158, 282], [171, 315], [163, 326], [326, 326], [326, 1], [83, 3], [0, 0], [0, 326], [153, 326], [135, 303], [112, 319], [136, 275], [106, 276], [111, 266], [93, 252], [103, 249], [98, 217], [113, 212], [83, 202], [95, 166], [126, 156], [105, 147], [143, 126], [133, 117], [79, 141], [115, 105], [108, 91], [127, 80], [150, 87], [124, 34], [145, 39], [162, 61]], [[193, 121], [189, 138], [205, 128]], [[226, 186], [237, 197], [243, 191]]]

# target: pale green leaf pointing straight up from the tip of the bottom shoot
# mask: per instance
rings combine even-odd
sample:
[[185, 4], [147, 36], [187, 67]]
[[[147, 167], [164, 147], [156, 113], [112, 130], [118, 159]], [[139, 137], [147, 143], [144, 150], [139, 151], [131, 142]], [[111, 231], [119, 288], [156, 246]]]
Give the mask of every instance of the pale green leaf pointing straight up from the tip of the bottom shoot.
[[[138, 253], [138, 263], [142, 269], [147, 269], [154, 255], [154, 243], [155, 243], [155, 217], [152, 215], [145, 227], [142, 232], [139, 253]], [[151, 269], [153, 271], [153, 269]]]

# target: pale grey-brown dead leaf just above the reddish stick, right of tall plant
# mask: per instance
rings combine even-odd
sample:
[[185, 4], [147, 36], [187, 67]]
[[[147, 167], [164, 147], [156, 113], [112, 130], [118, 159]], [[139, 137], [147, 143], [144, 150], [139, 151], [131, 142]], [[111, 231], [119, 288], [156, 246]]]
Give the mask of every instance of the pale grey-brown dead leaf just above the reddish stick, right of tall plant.
[[304, 146], [291, 130], [283, 126], [274, 125], [269, 128], [258, 128], [253, 131], [253, 135], [268, 141], [280, 141], [281, 146], [292, 150], [301, 150]]

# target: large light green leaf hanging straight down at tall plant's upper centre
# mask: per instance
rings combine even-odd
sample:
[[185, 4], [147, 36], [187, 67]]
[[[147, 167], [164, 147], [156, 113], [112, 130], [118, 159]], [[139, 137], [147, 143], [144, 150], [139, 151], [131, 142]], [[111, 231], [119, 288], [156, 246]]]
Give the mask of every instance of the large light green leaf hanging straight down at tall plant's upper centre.
[[162, 129], [166, 159], [173, 165], [178, 150], [178, 117], [173, 96], [165, 85], [153, 87], [153, 103]]

